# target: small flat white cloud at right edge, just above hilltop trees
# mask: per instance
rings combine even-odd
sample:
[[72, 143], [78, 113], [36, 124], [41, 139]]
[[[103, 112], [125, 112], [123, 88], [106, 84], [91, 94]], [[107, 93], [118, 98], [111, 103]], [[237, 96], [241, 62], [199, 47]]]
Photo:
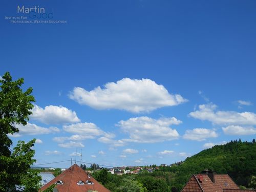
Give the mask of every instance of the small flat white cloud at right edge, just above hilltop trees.
[[222, 127], [222, 130], [227, 135], [254, 135], [256, 129], [254, 127], [243, 127], [239, 125], [229, 125]]

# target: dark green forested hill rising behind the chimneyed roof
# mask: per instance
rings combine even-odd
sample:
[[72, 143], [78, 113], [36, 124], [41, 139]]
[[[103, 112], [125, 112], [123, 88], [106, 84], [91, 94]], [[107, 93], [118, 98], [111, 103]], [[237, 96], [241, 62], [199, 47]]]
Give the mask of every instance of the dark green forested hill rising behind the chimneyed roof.
[[170, 169], [176, 173], [175, 183], [178, 185], [184, 185], [192, 174], [212, 169], [218, 174], [228, 174], [238, 185], [248, 187], [251, 177], [256, 175], [255, 139], [252, 142], [242, 142], [239, 139], [216, 145]]

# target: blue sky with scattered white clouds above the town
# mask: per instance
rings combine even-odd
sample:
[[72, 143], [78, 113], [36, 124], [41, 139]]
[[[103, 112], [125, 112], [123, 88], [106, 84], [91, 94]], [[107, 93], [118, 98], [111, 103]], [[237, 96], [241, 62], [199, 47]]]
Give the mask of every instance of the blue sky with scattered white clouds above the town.
[[[26, 16], [17, 6], [53, 9], [67, 23], [10, 23]], [[37, 164], [82, 150], [82, 161], [109, 166], [170, 164], [251, 141], [255, 9], [255, 1], [2, 1], [0, 75], [24, 77], [36, 99], [28, 125], [10, 137], [38, 139]]]

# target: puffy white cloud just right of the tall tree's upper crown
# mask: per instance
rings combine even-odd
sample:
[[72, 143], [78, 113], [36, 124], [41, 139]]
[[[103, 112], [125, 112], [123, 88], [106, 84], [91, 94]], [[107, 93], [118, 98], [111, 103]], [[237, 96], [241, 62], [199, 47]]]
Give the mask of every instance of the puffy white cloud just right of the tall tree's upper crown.
[[32, 112], [33, 114], [30, 116], [31, 119], [46, 124], [75, 123], [80, 121], [76, 112], [69, 110], [64, 106], [49, 105], [43, 109], [40, 106], [34, 105]]

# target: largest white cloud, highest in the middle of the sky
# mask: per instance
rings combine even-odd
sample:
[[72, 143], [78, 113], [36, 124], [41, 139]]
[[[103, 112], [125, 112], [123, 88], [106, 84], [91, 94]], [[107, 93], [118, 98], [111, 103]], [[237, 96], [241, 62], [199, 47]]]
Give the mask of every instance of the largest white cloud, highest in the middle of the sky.
[[173, 106], [186, 102], [179, 94], [170, 94], [151, 79], [123, 78], [108, 82], [104, 88], [87, 91], [75, 87], [69, 97], [79, 104], [89, 105], [94, 109], [118, 109], [133, 113], [150, 112], [163, 106]]

